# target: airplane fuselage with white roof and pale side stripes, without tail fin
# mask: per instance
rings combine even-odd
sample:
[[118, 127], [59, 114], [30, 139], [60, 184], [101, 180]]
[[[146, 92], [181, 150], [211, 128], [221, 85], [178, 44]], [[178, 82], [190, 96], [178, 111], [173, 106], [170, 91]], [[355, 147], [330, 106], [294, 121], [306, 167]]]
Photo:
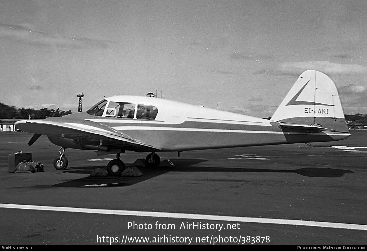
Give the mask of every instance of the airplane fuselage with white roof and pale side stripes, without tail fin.
[[[153, 146], [159, 151], [333, 141], [349, 136], [346, 133], [333, 131], [284, 130], [276, 121], [161, 98], [115, 96], [106, 100], [132, 103], [135, 106], [153, 105], [158, 109], [158, 113], [154, 120], [137, 119], [137, 109], [135, 109], [134, 118], [111, 117], [107, 116], [105, 111], [101, 116], [82, 112], [63, 118], [52, 118], [52, 120], [73, 122], [80, 128], [96, 126], [101, 130], [109, 129], [137, 142]], [[62, 146], [61, 141], [64, 139], [57, 141], [57, 137], [49, 138], [53, 143]], [[72, 147], [70, 143], [65, 147]], [[77, 144], [80, 145], [80, 143]], [[126, 148], [126, 150], [134, 149]]]

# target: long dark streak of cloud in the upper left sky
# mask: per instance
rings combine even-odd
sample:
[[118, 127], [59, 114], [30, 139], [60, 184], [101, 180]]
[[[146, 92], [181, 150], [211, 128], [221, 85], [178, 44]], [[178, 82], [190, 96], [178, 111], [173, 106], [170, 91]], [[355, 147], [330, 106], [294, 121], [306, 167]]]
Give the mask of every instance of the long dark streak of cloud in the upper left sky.
[[32, 28], [31, 25], [12, 25], [0, 23], [0, 37], [35, 46], [62, 47], [62, 48], [109, 48], [115, 43], [111, 40], [90, 39], [86, 37], [56, 36]]

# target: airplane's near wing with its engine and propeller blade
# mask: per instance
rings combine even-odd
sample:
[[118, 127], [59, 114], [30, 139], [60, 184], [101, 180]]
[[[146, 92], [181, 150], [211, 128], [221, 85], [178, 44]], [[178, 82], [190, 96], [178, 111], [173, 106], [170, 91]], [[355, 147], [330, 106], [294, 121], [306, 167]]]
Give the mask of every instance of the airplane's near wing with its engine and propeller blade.
[[[96, 126], [85, 125], [81, 123], [22, 120], [15, 123], [15, 128], [24, 132], [35, 133], [37, 136], [32, 137], [32, 142], [29, 142], [31, 144], [38, 139], [38, 135], [50, 135], [79, 141], [80, 139], [89, 139], [98, 142], [101, 142], [101, 140], [106, 140], [116, 147], [137, 147], [149, 151], [160, 150], [157, 147], [134, 140], [128, 135], [113, 130], [107, 126], [102, 126], [99, 123], [95, 124]], [[36, 138], [36, 140], [34, 140], [34, 138]]]

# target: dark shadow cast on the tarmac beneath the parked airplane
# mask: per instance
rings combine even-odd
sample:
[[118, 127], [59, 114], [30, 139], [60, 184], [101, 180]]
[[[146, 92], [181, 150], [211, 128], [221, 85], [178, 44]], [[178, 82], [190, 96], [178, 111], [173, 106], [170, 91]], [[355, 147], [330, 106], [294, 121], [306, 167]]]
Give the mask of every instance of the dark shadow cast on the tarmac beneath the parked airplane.
[[[226, 167], [210, 167], [210, 166], [195, 166], [201, 162], [207, 161], [206, 159], [171, 159], [175, 164], [175, 167], [162, 167], [162, 168], [146, 168], [139, 167], [139, 170], [143, 173], [140, 177], [126, 177], [126, 176], [94, 176], [85, 177], [76, 180], [70, 180], [54, 184], [56, 187], [116, 187], [116, 186], [131, 186], [139, 182], [155, 178], [167, 172], [248, 172], [248, 173], [297, 173], [307, 177], [320, 177], [320, 178], [338, 178], [345, 173], [354, 173], [345, 169], [334, 168], [320, 168], [320, 167], [306, 167], [299, 169], [263, 169], [263, 168], [226, 168]], [[127, 164], [127, 167], [130, 166]], [[90, 174], [95, 168], [99, 166], [82, 166], [74, 167], [72, 169], [65, 169], [64, 172], [68, 173], [85, 173]]]

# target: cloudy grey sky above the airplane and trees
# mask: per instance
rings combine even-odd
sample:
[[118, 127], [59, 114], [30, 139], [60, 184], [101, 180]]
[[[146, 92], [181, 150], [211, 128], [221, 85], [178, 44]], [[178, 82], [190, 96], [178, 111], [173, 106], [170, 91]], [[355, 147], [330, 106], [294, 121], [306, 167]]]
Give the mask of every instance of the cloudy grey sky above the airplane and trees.
[[272, 116], [305, 70], [367, 114], [365, 0], [1, 0], [0, 102], [83, 111], [158, 96]]

